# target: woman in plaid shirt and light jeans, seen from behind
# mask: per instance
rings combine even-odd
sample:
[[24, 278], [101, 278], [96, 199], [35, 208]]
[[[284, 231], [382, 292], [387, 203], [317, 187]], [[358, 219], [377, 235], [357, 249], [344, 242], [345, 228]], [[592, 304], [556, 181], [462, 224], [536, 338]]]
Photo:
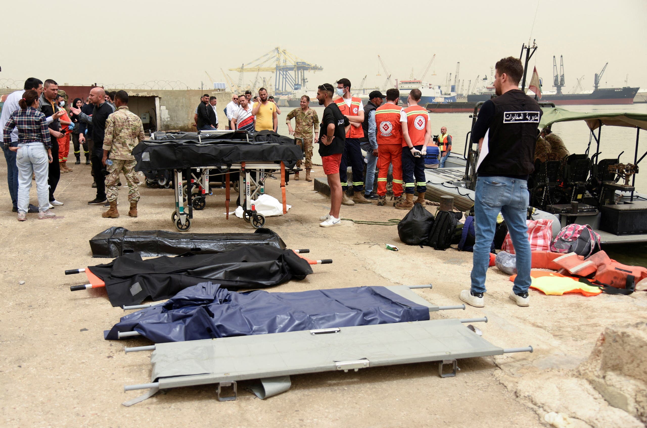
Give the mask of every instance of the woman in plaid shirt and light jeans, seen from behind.
[[11, 131], [14, 127], [18, 128], [18, 147], [8, 147], [17, 152], [18, 221], [27, 220], [32, 174], [36, 176], [38, 190], [38, 219], [50, 219], [54, 213], [49, 211], [47, 175], [48, 164], [52, 162], [52, 140], [47, 119], [45, 114], [38, 111], [38, 92], [32, 89], [25, 91], [19, 105], [20, 109], [11, 114], [3, 129], [5, 146], [8, 147]]

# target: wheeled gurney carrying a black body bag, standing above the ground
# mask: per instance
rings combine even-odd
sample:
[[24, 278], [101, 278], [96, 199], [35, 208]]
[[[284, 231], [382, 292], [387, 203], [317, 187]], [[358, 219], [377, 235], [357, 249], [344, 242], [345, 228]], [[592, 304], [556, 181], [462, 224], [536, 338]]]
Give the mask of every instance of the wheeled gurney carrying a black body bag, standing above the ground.
[[[297, 160], [303, 159], [303, 149], [296, 140], [278, 134], [201, 131], [156, 134], [155, 140], [140, 142], [133, 149], [133, 156], [137, 159], [137, 171], [172, 171], [175, 209], [171, 221], [177, 230], [191, 228], [193, 209], [201, 210], [206, 206], [206, 195], [212, 195], [210, 179], [214, 176], [222, 177], [225, 183], [226, 218], [229, 218], [233, 179], [240, 192], [238, 202], [243, 207], [243, 219], [258, 229], [265, 225], [265, 217], [256, 211], [252, 200], [265, 192], [269, 174], [280, 172], [283, 214], [287, 213], [285, 185], [289, 171]], [[253, 191], [252, 186], [255, 187]], [[197, 192], [195, 197], [194, 190]]]

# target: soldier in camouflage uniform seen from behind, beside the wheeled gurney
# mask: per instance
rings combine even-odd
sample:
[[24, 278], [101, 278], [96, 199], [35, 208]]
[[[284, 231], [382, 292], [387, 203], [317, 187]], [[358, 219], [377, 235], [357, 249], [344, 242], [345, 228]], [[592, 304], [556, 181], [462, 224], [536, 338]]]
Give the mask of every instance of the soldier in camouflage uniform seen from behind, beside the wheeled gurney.
[[144, 140], [144, 125], [137, 114], [128, 109], [128, 94], [126, 91], [118, 91], [115, 95], [116, 111], [108, 116], [105, 121], [104, 137], [104, 158], [106, 165], [108, 154], [112, 165], [107, 165], [108, 175], [105, 177], [107, 187], [107, 198], [110, 202], [110, 209], [102, 214], [102, 217], [116, 219], [119, 217], [117, 211], [117, 196], [119, 187], [119, 173], [123, 171], [128, 184], [128, 200], [130, 202], [130, 217], [137, 217], [137, 201], [139, 200], [139, 180], [135, 173], [135, 156], [132, 155], [135, 145]]

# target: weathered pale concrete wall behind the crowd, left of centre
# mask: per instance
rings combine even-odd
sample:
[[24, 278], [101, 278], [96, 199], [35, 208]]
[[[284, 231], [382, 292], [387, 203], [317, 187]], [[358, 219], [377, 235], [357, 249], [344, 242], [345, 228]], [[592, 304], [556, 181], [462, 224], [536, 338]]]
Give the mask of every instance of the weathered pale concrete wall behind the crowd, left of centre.
[[187, 91], [175, 90], [148, 90], [142, 91], [139, 89], [126, 89], [131, 96], [159, 96], [160, 123], [158, 129], [160, 131], [168, 129], [179, 129], [180, 131], [195, 131], [195, 126], [192, 126], [193, 114], [195, 107], [200, 103], [200, 97], [203, 94], [210, 94], [218, 100], [218, 122], [219, 128], [225, 129], [227, 117], [225, 116], [225, 107], [227, 103], [232, 100], [231, 92], [215, 92], [210, 90], [198, 91], [190, 89]]

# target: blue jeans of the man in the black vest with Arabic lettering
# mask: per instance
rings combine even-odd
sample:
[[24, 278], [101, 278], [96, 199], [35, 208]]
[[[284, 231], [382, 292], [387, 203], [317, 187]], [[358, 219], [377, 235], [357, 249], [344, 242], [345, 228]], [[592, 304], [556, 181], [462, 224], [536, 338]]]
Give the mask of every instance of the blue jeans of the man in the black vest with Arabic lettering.
[[474, 256], [472, 259], [472, 291], [485, 293], [485, 273], [490, 263], [490, 246], [494, 239], [499, 212], [508, 226], [517, 256], [517, 277], [512, 291], [526, 292], [530, 286], [532, 252], [526, 226], [529, 203], [528, 182], [509, 177], [478, 177], [474, 201]]

